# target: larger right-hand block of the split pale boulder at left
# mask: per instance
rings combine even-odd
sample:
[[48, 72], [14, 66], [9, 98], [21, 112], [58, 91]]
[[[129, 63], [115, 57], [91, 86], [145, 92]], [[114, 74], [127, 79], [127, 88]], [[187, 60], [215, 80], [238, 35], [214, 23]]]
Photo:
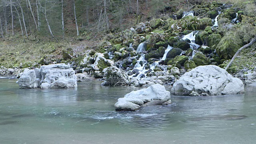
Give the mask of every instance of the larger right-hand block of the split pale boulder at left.
[[75, 71], [66, 64], [50, 64], [40, 67], [40, 88], [76, 88]]

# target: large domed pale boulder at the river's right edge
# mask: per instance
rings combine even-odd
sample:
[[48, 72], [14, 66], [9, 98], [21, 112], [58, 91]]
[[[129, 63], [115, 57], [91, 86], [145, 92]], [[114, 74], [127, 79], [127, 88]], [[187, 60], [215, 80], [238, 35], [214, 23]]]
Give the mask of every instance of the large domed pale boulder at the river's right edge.
[[171, 92], [185, 96], [242, 94], [244, 84], [218, 66], [198, 66], [182, 75], [173, 84]]

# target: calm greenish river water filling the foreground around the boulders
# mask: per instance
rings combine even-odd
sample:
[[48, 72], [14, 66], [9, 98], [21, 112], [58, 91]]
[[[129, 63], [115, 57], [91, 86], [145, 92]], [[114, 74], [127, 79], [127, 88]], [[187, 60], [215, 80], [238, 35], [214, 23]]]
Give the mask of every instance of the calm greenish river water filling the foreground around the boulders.
[[[256, 87], [236, 96], [172, 96], [168, 106], [115, 112], [127, 87], [19, 89], [0, 79], [1, 144], [252, 144]], [[170, 88], [166, 87], [167, 90]]]

